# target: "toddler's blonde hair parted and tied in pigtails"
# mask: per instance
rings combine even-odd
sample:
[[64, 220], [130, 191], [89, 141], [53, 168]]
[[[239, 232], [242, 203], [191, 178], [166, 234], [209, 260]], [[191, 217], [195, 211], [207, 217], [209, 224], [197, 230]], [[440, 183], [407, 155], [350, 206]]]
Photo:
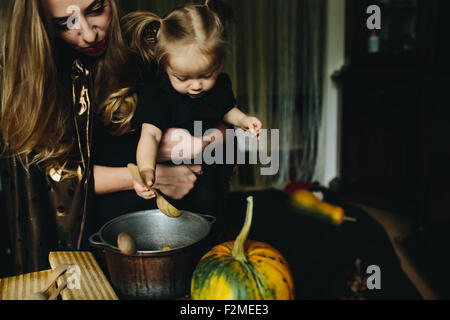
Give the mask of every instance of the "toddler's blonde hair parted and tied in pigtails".
[[143, 11], [127, 14], [122, 21], [130, 48], [149, 62], [155, 60], [165, 69], [172, 50], [195, 45], [211, 67], [222, 67], [226, 55], [224, 27], [207, 4], [184, 5], [164, 18]]

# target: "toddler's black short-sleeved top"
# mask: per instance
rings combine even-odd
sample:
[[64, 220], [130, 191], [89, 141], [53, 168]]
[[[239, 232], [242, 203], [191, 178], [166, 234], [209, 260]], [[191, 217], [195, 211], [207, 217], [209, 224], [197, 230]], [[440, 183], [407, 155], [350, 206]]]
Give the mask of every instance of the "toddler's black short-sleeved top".
[[194, 122], [202, 121], [202, 134], [215, 127], [236, 106], [231, 80], [221, 73], [215, 86], [200, 98], [192, 99], [175, 91], [167, 76], [159, 83], [138, 88], [133, 126], [152, 124], [161, 131], [181, 128], [194, 135]]

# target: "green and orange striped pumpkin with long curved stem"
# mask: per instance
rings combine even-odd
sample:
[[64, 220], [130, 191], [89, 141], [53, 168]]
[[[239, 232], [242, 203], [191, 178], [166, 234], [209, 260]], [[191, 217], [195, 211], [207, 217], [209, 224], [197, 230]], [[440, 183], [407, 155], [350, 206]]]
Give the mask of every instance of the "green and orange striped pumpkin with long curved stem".
[[193, 300], [293, 300], [289, 266], [276, 249], [247, 240], [253, 215], [253, 198], [247, 199], [247, 216], [236, 241], [214, 247], [202, 257], [191, 283]]

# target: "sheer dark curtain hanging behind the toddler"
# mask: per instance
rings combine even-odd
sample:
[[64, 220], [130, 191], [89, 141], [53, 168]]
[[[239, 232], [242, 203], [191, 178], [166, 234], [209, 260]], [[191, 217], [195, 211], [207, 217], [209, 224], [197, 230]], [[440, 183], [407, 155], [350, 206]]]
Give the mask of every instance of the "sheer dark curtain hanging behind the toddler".
[[[240, 108], [258, 116], [264, 128], [279, 129], [280, 142], [272, 146], [270, 133], [264, 141], [272, 152], [279, 152], [278, 174], [261, 175], [263, 165], [239, 166], [233, 189], [310, 181], [322, 119], [327, 1], [222, 1], [229, 2], [233, 11], [225, 72], [233, 81]], [[125, 12], [148, 10], [160, 16], [190, 2], [119, 0]]]

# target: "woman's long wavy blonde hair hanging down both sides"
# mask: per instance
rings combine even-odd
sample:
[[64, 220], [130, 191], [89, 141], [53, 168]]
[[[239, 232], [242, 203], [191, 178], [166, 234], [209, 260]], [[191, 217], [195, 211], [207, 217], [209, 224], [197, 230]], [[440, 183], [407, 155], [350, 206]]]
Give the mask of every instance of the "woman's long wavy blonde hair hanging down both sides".
[[[129, 129], [136, 96], [118, 8], [114, 0], [110, 3], [109, 45], [97, 65], [94, 102], [105, 124], [115, 124], [115, 133], [122, 134]], [[73, 111], [58, 79], [48, 13], [40, 0], [5, 0], [1, 19], [2, 151], [28, 165], [61, 165], [75, 143]]]

